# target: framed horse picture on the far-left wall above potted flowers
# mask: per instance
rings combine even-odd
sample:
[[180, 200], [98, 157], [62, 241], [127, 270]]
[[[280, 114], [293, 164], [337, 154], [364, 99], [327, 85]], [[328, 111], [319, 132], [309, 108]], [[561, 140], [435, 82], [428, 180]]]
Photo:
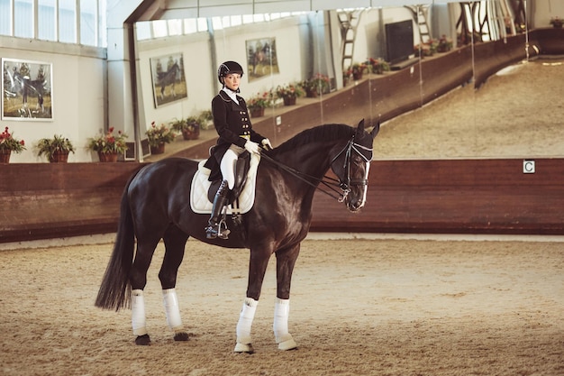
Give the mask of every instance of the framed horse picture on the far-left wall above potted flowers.
[[2, 59], [2, 119], [52, 121], [52, 64]]

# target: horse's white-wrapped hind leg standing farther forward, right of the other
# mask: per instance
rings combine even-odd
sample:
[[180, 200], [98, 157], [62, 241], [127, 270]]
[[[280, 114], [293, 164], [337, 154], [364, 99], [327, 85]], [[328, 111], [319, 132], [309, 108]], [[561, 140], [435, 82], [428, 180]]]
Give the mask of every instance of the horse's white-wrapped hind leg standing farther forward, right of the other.
[[182, 325], [180, 318], [180, 308], [178, 307], [177, 291], [177, 271], [184, 257], [184, 247], [188, 236], [182, 233], [177, 227], [170, 228], [164, 236], [165, 257], [159, 271], [160, 285], [167, 315], [167, 324], [174, 331], [175, 341], [187, 341], [188, 334]]

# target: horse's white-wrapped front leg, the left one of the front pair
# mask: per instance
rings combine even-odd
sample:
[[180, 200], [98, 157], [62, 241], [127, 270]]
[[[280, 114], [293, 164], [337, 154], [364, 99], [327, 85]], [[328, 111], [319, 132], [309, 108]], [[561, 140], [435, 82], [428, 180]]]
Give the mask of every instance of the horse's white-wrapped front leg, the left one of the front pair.
[[237, 322], [237, 344], [235, 353], [254, 353], [250, 339], [250, 327], [259, 304], [260, 289], [267, 271], [268, 259], [271, 252], [257, 252], [250, 250], [249, 281], [247, 284], [247, 298], [241, 308], [239, 321]]

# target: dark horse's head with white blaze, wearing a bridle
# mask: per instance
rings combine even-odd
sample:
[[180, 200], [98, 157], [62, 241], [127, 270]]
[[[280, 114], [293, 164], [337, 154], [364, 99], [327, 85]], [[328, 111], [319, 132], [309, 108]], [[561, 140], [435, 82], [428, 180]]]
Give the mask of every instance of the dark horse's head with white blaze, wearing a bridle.
[[368, 133], [364, 130], [364, 120], [361, 120], [349, 142], [332, 158], [331, 170], [339, 179], [343, 192], [340, 201], [344, 201], [351, 212], [356, 212], [366, 202], [372, 142], [379, 128], [377, 124]]

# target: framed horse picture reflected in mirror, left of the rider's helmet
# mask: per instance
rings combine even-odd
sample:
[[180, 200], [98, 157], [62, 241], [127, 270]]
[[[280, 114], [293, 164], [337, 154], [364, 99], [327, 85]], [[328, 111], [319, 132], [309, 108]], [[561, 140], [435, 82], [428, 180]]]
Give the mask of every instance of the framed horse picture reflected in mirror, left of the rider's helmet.
[[150, 73], [155, 108], [188, 97], [181, 52], [150, 58]]

